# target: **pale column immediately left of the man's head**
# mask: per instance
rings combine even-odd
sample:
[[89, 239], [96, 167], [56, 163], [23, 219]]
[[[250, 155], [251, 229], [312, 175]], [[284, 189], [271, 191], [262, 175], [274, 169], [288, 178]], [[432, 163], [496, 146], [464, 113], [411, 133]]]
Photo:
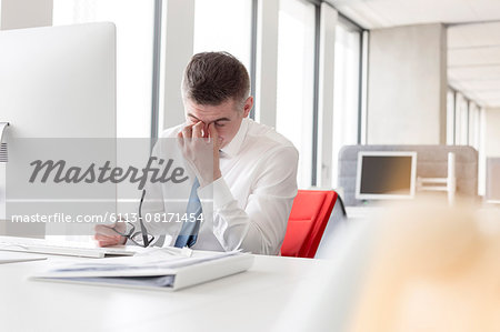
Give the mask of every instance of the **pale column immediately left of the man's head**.
[[184, 121], [180, 89], [184, 68], [192, 57], [194, 37], [194, 0], [167, 0], [164, 7], [160, 132]]

